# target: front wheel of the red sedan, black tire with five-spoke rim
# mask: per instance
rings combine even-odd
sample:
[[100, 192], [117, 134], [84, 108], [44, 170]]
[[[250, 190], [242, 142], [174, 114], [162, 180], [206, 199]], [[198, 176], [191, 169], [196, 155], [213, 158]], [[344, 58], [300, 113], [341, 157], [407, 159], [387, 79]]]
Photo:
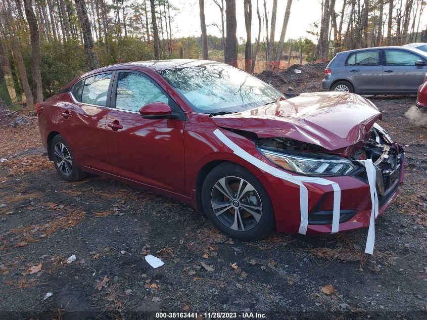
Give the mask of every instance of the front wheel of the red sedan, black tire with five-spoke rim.
[[202, 204], [212, 223], [228, 237], [257, 240], [274, 226], [270, 198], [247, 169], [225, 162], [206, 176]]

